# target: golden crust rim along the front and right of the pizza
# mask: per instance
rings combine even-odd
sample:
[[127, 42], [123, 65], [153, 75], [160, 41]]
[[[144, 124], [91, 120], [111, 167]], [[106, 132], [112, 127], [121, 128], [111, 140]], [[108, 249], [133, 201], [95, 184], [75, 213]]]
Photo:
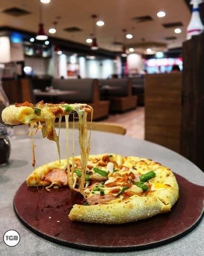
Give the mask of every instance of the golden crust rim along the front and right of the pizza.
[[74, 205], [69, 214], [71, 220], [121, 224], [147, 219], [171, 209], [179, 198], [179, 186], [169, 168], [138, 157], [124, 157], [122, 161], [127, 167], [135, 166], [141, 174], [154, 170], [156, 177], [151, 179], [152, 191], [146, 196], [134, 195], [128, 199], [112, 200], [107, 204]]

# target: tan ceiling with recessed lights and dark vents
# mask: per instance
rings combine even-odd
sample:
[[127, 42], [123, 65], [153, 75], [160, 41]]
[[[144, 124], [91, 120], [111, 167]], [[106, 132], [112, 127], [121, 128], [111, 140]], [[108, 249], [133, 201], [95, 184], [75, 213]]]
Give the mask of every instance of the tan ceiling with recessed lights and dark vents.
[[[1, 0], [0, 26], [9, 26], [17, 29], [37, 32], [39, 23], [40, 0]], [[96, 36], [100, 48], [119, 51], [121, 46], [113, 45], [113, 41], [123, 42], [122, 29], [133, 34], [132, 39], [126, 39], [129, 47], [141, 46], [141, 41], [159, 42], [167, 47], [181, 47], [186, 40], [186, 27], [190, 20], [190, 11], [184, 0], [50, 0], [49, 4], [42, 5], [43, 23], [48, 35], [76, 42], [86, 43], [86, 39], [93, 33], [92, 14], [98, 15], [98, 20], [104, 20], [103, 27], [96, 28]], [[7, 8], [17, 7], [30, 14], [11, 16], [3, 13]], [[165, 11], [166, 16], [157, 17], [158, 11]], [[136, 23], [133, 17], [150, 15], [153, 20]], [[57, 19], [60, 16], [61, 18]], [[53, 22], [58, 21], [57, 33], [49, 34], [48, 29]], [[181, 34], [175, 34], [174, 29], [164, 28], [164, 23], [182, 22]], [[64, 28], [78, 27], [81, 32], [66, 32]], [[176, 36], [176, 39], [166, 40], [165, 37]], [[142, 39], [143, 38], [143, 39]], [[88, 44], [87, 44], [88, 45]], [[148, 45], [148, 44], [147, 44]]]

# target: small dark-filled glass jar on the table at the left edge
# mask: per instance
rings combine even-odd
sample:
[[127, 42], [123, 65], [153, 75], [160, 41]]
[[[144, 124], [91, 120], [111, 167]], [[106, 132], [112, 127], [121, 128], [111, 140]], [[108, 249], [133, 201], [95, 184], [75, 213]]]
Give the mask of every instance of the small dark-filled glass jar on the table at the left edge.
[[0, 127], [0, 166], [8, 163], [10, 153], [11, 145], [7, 137], [7, 130], [5, 127]]

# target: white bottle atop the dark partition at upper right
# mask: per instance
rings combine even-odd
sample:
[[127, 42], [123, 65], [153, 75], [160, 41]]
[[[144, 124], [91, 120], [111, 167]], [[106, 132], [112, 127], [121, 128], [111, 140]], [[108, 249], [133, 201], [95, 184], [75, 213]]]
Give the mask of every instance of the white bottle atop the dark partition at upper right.
[[193, 35], [199, 35], [203, 31], [203, 25], [199, 14], [199, 4], [202, 0], [191, 0], [190, 4], [193, 5], [190, 23], [187, 27], [187, 40], [191, 39]]

